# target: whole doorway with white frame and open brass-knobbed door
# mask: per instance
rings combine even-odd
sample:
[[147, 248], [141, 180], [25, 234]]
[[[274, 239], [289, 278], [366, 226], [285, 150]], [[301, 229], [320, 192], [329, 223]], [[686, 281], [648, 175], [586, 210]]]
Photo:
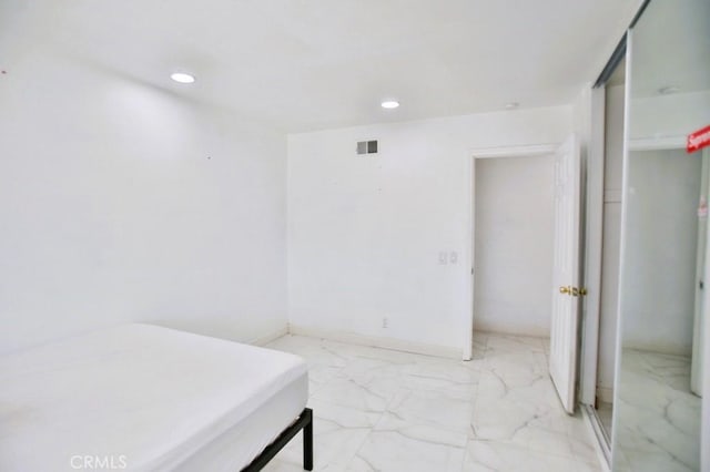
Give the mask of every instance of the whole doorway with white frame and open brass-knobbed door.
[[[545, 156], [538, 160], [542, 166], [531, 171], [531, 160]], [[478, 164], [494, 157], [504, 160]], [[523, 164], [528, 165], [521, 168]], [[549, 334], [549, 373], [562, 408], [574, 414], [579, 297], [587, 293], [579, 278], [579, 142], [572, 134], [561, 145], [477, 152], [470, 170], [471, 322], [464, 359], [473, 357], [475, 327], [514, 335]], [[536, 172], [540, 174], [530, 178]], [[495, 255], [497, 260], [488, 260]], [[530, 316], [531, 300], [542, 307], [537, 317]]]

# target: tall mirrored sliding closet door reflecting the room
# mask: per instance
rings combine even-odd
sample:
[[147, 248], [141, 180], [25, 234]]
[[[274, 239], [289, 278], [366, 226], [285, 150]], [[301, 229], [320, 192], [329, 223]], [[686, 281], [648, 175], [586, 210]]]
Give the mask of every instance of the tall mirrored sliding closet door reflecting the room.
[[612, 469], [710, 470], [701, 464], [710, 154], [686, 150], [687, 135], [710, 124], [710, 1], [651, 0], [627, 64]]

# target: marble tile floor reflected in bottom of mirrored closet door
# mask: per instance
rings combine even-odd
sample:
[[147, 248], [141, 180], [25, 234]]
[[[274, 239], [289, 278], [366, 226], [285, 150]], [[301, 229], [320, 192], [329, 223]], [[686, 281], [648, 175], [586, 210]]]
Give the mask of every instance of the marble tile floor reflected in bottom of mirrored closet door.
[[700, 469], [701, 400], [690, 392], [689, 357], [623, 349], [615, 408], [615, 471]]

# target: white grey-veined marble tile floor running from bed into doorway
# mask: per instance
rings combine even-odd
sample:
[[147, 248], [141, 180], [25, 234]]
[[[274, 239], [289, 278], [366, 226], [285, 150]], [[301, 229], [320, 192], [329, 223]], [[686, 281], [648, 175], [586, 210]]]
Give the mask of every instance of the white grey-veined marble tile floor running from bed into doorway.
[[[559, 404], [548, 342], [476, 334], [469, 362], [285, 336], [310, 365], [316, 471], [600, 471]], [[301, 434], [266, 466], [302, 469]]]

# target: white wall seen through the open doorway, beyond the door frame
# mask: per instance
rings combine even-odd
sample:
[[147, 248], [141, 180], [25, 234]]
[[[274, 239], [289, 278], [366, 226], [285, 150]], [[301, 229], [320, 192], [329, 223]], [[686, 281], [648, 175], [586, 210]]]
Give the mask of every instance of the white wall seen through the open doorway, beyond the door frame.
[[475, 329], [549, 336], [555, 156], [476, 160]]

